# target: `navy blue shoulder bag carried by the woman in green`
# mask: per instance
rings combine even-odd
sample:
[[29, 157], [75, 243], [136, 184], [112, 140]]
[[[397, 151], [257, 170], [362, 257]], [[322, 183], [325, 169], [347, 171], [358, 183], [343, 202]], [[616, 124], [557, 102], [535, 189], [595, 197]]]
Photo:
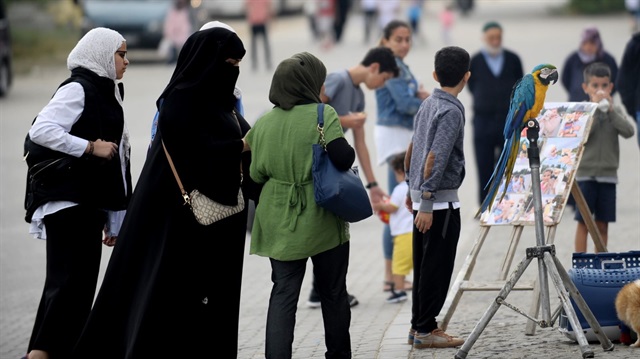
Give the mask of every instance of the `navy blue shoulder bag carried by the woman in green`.
[[329, 159], [324, 140], [324, 104], [318, 104], [320, 143], [313, 144], [313, 191], [316, 203], [347, 222], [358, 222], [373, 215], [367, 190], [358, 168], [340, 171]]

